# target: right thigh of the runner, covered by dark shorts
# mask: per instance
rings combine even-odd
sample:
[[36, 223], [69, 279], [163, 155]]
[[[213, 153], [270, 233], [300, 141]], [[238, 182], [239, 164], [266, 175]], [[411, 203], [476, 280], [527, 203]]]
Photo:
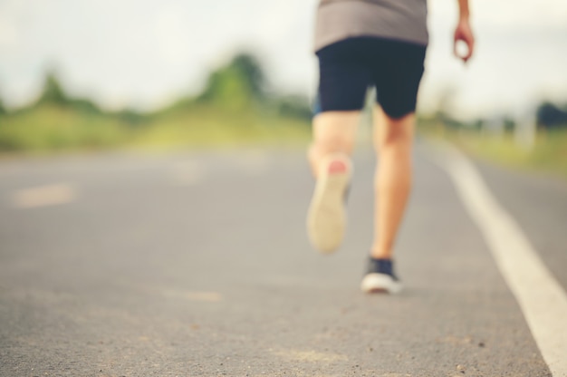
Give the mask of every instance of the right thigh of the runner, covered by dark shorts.
[[415, 112], [426, 46], [385, 40], [373, 52], [372, 79], [384, 112], [394, 119]]

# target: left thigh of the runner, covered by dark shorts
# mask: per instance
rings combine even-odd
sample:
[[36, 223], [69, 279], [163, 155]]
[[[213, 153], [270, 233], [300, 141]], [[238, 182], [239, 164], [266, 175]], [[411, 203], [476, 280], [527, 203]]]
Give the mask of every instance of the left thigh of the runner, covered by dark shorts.
[[356, 111], [372, 82], [370, 66], [356, 40], [333, 43], [317, 52], [321, 111]]

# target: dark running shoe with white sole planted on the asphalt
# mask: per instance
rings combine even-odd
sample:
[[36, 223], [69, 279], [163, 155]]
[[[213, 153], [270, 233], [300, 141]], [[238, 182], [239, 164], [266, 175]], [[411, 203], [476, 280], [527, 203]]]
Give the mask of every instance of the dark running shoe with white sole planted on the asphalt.
[[394, 274], [393, 262], [389, 259], [376, 259], [370, 256], [368, 270], [362, 279], [360, 289], [367, 294], [394, 295], [399, 293], [402, 285]]

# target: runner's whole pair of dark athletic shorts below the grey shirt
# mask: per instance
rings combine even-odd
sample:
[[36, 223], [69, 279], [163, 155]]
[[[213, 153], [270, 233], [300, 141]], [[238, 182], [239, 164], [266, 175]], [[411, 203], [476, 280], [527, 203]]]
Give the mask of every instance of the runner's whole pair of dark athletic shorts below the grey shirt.
[[316, 112], [352, 111], [364, 106], [376, 86], [377, 102], [391, 118], [416, 111], [427, 47], [375, 37], [345, 39], [323, 47]]

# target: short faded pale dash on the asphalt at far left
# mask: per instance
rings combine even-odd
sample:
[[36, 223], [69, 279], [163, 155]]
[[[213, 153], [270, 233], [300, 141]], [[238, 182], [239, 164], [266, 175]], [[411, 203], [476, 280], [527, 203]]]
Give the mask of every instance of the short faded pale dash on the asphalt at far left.
[[13, 202], [17, 208], [57, 206], [72, 202], [75, 189], [67, 183], [20, 189], [14, 193]]

